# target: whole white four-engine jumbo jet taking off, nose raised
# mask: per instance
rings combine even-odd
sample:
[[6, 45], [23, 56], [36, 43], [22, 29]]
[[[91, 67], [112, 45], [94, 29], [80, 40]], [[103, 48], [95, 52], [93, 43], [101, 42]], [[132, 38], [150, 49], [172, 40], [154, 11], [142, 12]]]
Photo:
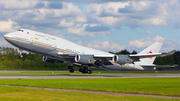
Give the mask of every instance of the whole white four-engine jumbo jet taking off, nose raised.
[[[80, 67], [79, 72], [89, 74], [92, 73], [91, 67], [116, 71], [154, 70], [164, 67], [153, 64], [156, 56], [172, 55], [175, 52], [173, 50], [169, 53], [159, 53], [162, 43], [155, 42], [135, 55], [114, 55], [29, 29], [5, 34], [4, 38], [21, 50], [43, 55], [44, 62], [70, 63], [68, 68], [72, 73], [73, 64]], [[133, 60], [132, 57], [138, 57], [139, 61]]]

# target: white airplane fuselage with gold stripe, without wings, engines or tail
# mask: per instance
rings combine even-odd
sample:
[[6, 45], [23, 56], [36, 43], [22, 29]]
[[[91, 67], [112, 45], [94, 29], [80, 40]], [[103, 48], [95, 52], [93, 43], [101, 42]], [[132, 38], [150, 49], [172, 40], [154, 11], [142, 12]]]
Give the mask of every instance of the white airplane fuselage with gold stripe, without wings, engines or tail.
[[[4, 35], [4, 38], [20, 49], [30, 52], [47, 55], [61, 61], [68, 61], [61, 55], [64, 54], [85, 54], [85, 55], [100, 55], [100, 56], [113, 56], [108, 52], [84, 47], [63, 38], [44, 34], [28, 29], [22, 29]], [[113, 65], [107, 65], [105, 69], [112, 70], [143, 70], [138, 64], [125, 64], [119, 65], [111, 61]]]

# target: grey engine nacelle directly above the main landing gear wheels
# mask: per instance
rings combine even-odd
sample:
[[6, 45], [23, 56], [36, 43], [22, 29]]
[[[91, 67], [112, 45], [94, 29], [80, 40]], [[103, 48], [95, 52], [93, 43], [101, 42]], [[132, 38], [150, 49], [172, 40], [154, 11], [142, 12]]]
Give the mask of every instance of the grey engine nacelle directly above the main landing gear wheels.
[[75, 62], [81, 63], [81, 64], [88, 64], [90, 62], [90, 59], [85, 55], [76, 55]]

